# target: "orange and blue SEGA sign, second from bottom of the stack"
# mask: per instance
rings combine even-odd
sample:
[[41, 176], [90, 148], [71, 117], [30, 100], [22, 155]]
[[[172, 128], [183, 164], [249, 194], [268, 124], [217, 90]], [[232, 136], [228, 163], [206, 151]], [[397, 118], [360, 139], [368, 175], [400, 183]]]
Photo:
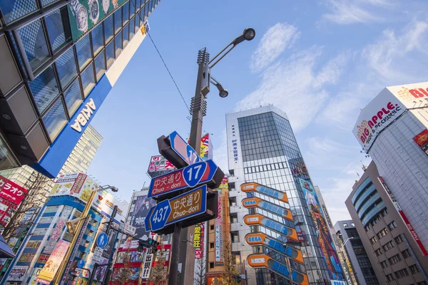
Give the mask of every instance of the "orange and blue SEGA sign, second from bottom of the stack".
[[247, 234], [245, 236], [245, 241], [250, 245], [264, 245], [265, 247], [273, 249], [275, 252], [284, 254], [287, 257], [303, 264], [302, 252], [300, 252], [299, 249], [293, 249], [283, 242], [278, 242], [277, 240], [272, 239], [272, 237], [268, 237], [266, 234], [262, 234], [260, 232]]

